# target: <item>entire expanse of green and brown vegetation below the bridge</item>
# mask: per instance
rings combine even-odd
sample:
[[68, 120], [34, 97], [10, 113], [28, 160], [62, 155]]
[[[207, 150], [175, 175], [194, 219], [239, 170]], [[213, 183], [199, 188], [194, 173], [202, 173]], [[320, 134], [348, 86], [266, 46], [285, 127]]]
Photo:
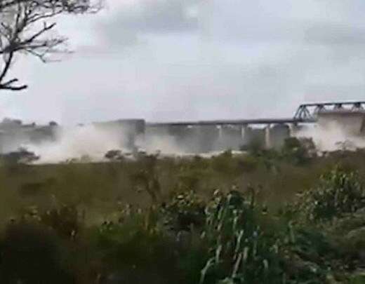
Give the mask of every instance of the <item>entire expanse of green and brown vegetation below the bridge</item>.
[[4, 164], [0, 283], [365, 283], [364, 158]]

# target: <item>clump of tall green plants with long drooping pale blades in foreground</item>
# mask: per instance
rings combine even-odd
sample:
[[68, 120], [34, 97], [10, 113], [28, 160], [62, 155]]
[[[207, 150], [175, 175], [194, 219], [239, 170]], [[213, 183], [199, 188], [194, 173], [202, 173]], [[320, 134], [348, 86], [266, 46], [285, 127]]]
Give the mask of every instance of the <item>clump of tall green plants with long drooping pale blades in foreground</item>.
[[201, 284], [281, 283], [277, 239], [260, 228], [254, 202], [237, 191], [215, 193], [206, 208], [203, 238], [211, 257], [201, 270]]

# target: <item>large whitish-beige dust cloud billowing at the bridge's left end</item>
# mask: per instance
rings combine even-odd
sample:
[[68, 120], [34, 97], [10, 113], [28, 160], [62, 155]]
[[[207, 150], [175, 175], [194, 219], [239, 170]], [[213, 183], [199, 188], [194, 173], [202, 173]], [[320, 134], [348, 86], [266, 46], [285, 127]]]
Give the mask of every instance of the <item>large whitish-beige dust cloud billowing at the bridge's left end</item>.
[[39, 160], [35, 163], [62, 163], [65, 161], [107, 161], [105, 154], [119, 150], [132, 157], [133, 146], [147, 154], [179, 155], [185, 151], [173, 135], [133, 135], [128, 128], [103, 128], [95, 125], [72, 126], [55, 130], [53, 141], [21, 145], [32, 151]]

